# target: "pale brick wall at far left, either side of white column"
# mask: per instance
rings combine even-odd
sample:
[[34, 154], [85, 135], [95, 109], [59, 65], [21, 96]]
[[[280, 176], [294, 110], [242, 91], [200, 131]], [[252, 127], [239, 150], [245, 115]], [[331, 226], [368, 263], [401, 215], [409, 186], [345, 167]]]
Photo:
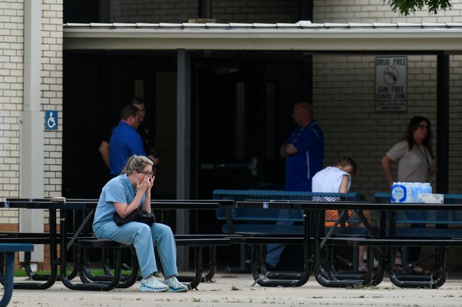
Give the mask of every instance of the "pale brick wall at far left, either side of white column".
[[[41, 106], [62, 113], [62, 0], [42, 1]], [[19, 197], [20, 112], [23, 110], [24, 0], [0, 2], [0, 198]], [[61, 195], [62, 118], [45, 131], [44, 196]], [[18, 231], [18, 210], [0, 211], [0, 229]], [[48, 213], [45, 213], [48, 221]], [[44, 225], [47, 229], [48, 222]], [[45, 259], [49, 258], [45, 248]], [[45, 263], [49, 263], [46, 260]], [[39, 269], [49, 269], [41, 264]]]

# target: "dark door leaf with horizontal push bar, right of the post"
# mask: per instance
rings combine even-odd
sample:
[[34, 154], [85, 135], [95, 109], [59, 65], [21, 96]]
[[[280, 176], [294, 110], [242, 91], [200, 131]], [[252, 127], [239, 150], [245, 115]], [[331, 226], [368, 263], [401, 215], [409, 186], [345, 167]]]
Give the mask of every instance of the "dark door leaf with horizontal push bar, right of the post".
[[199, 196], [220, 188], [258, 185], [258, 157], [265, 148], [262, 67], [200, 66], [198, 69]]

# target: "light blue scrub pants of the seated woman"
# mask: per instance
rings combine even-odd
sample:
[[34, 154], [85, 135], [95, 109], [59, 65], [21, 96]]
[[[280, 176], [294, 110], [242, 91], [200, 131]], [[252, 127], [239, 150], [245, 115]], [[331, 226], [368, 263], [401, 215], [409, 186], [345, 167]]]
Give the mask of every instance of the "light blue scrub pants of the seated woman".
[[127, 245], [133, 244], [137, 251], [143, 278], [158, 271], [154, 255], [155, 244], [164, 269], [164, 277], [178, 275], [174, 234], [172, 229], [165, 224], [154, 223], [149, 227], [140, 222], [128, 222], [117, 226], [115, 222], [109, 221], [95, 229], [94, 235], [100, 239], [109, 239]]

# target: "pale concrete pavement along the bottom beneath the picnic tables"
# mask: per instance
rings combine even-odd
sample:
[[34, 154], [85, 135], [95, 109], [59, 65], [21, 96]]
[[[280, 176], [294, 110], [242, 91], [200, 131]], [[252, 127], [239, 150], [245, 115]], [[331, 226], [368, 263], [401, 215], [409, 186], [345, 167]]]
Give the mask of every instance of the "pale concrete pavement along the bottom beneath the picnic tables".
[[[24, 280], [25, 278], [17, 278]], [[215, 283], [201, 283], [187, 293], [111, 292], [69, 290], [57, 282], [48, 290], [14, 290], [9, 306], [462, 306], [462, 278], [451, 278], [437, 290], [401, 289], [388, 278], [377, 287], [326, 288], [314, 278], [302, 287], [251, 286], [250, 274], [217, 273]]]

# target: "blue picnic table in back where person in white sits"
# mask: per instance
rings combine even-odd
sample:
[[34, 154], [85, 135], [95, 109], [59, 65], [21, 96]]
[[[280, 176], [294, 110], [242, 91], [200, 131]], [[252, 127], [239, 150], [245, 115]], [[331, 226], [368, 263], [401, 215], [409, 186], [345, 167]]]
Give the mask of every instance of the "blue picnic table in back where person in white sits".
[[[279, 190], [214, 190], [214, 199], [232, 199], [233, 201], [251, 200], [303, 200], [303, 201], [360, 201], [357, 193], [316, 193], [292, 192]], [[250, 263], [253, 278], [260, 285], [278, 286], [293, 285], [295, 280], [302, 280], [300, 272], [275, 272], [267, 270], [265, 266], [265, 246], [267, 243], [302, 244], [300, 241], [304, 234], [302, 210], [294, 211], [289, 216], [281, 215], [281, 209], [268, 208], [237, 208], [235, 206], [222, 206], [217, 210], [218, 220], [225, 221], [223, 234], [239, 234], [242, 236], [239, 268], [227, 267], [228, 271], [248, 271], [246, 264]], [[336, 220], [337, 210], [330, 210], [325, 214], [325, 220], [333, 223]], [[281, 221], [289, 222], [287, 224]], [[359, 217], [351, 212], [346, 219], [339, 223], [335, 234], [364, 234], [362, 227], [346, 227], [348, 223], [360, 222]], [[330, 227], [326, 226], [325, 231]], [[298, 238], [297, 238], [298, 237]], [[246, 259], [246, 245], [251, 245], [250, 261]], [[356, 261], [349, 261], [338, 257], [342, 262], [357, 268]], [[357, 248], [353, 252], [353, 259], [358, 259]], [[263, 277], [262, 277], [263, 276]], [[268, 280], [269, 279], [269, 280]], [[272, 280], [273, 279], [273, 280]], [[285, 281], [283, 281], [283, 279]]]

